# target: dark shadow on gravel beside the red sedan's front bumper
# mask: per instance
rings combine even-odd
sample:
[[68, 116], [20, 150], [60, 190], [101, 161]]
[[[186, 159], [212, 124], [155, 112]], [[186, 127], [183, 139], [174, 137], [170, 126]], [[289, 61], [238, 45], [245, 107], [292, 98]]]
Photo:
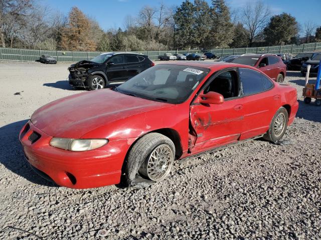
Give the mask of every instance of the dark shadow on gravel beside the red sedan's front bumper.
[[[24, 157], [18, 134], [27, 121], [28, 120], [16, 121], [0, 127], [0, 163], [15, 174], [26, 178], [28, 181], [45, 186], [57, 186], [55, 183], [49, 182], [35, 173]], [[13, 175], [13, 177], [15, 177], [15, 175]]]

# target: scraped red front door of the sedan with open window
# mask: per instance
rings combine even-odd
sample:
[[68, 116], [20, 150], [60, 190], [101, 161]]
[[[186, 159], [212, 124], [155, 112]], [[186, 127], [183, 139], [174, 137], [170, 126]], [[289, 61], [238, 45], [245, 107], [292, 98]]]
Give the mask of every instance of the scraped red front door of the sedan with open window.
[[[226, 84], [223, 82], [232, 82], [233, 89], [229, 84], [228, 89], [225, 90]], [[196, 98], [191, 104], [189, 151], [192, 153], [237, 142], [242, 132], [244, 111], [239, 94], [237, 69], [220, 71], [210, 77], [200, 93], [211, 90], [222, 94], [224, 102], [201, 104], [197, 103]]]

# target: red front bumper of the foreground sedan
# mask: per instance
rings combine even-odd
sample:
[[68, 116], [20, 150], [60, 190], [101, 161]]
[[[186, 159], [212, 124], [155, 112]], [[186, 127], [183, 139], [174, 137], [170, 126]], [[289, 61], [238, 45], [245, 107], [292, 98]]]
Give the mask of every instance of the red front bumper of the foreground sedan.
[[[33, 132], [40, 137], [32, 143]], [[58, 185], [71, 188], [92, 188], [120, 182], [122, 163], [129, 149], [128, 139], [109, 141], [94, 150], [68, 151], [50, 146], [51, 138], [31, 121], [19, 133], [26, 159], [44, 178], [49, 177]]]

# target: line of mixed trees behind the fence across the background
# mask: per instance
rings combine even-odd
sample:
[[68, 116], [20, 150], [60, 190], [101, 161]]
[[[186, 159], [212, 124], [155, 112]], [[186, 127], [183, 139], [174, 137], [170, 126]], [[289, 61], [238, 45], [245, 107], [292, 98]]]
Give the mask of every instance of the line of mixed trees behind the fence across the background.
[[[78, 7], [68, 15], [35, 0], [0, 0], [0, 46], [46, 50], [140, 51], [250, 47], [321, 41], [321, 26], [304, 27], [283, 12], [272, 15], [262, 0], [233, 10], [225, 0], [184, 0], [181, 5], [143, 6], [122, 28], [104, 31]], [[313, 36], [313, 34], [315, 36]]]

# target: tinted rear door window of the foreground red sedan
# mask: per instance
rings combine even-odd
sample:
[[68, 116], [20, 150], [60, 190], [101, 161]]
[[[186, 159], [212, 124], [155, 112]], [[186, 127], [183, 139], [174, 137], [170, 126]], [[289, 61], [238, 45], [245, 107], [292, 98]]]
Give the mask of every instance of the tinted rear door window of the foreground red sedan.
[[239, 68], [243, 95], [264, 91], [262, 74], [249, 68]]

